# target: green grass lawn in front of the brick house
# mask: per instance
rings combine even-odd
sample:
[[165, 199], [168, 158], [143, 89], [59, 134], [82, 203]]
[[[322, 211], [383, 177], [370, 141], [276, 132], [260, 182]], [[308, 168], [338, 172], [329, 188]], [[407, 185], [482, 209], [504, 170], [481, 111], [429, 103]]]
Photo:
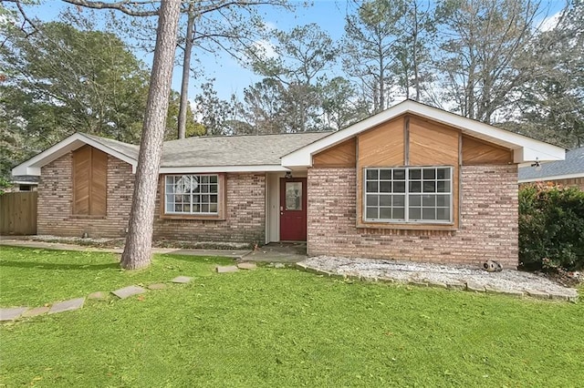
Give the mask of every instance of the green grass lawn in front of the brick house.
[[[195, 279], [140, 299], [88, 301], [81, 311], [1, 325], [0, 386], [576, 387], [584, 381], [582, 302], [347, 282], [267, 267], [214, 274], [212, 258], [158, 256], [150, 270], [129, 273], [107, 254], [2, 249], [1, 256], [2, 306], [179, 273]], [[27, 281], [30, 287], [19, 286]]]

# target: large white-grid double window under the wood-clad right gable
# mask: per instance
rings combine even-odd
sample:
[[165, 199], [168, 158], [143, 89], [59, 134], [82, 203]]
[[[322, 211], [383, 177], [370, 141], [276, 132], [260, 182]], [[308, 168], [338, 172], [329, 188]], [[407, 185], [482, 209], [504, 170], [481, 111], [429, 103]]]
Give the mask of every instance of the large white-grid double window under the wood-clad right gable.
[[365, 168], [365, 221], [451, 223], [453, 168]]

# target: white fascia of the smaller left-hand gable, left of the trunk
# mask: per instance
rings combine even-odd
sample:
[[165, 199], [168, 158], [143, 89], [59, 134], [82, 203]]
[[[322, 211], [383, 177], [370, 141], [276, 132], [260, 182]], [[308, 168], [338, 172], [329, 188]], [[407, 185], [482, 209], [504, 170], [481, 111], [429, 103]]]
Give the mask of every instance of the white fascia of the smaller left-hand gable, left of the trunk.
[[59, 141], [53, 147], [47, 148], [35, 157], [29, 158], [26, 160], [26, 162], [16, 166], [15, 168], [12, 168], [12, 175], [34, 175], [38, 177], [40, 176], [40, 168], [46, 166], [53, 160], [66, 155], [70, 151], [74, 151], [77, 148], [83, 147], [86, 144], [93, 148], [98, 148], [99, 150], [110, 154], [115, 158], [119, 158], [120, 160], [125, 161], [131, 165], [132, 172], [136, 172], [136, 165], [138, 164], [136, 159], [130, 158], [127, 155], [116, 151], [115, 149], [106, 147], [92, 138], [83, 136], [83, 134], [75, 133], [64, 140]]

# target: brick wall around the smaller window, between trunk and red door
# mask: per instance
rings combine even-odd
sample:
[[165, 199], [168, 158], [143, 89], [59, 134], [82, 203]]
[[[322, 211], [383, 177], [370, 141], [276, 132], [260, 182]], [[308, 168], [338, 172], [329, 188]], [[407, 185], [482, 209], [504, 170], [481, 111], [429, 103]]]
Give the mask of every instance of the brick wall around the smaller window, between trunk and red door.
[[229, 173], [225, 220], [168, 220], [156, 199], [154, 239], [249, 242], [266, 240], [266, 175]]

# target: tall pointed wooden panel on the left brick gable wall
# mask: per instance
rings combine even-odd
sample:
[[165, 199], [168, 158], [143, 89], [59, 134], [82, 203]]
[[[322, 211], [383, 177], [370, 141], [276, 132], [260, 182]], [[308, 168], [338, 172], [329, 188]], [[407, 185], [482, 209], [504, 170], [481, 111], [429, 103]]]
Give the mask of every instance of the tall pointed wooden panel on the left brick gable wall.
[[107, 211], [108, 154], [83, 146], [73, 151], [73, 214], [103, 217]]

